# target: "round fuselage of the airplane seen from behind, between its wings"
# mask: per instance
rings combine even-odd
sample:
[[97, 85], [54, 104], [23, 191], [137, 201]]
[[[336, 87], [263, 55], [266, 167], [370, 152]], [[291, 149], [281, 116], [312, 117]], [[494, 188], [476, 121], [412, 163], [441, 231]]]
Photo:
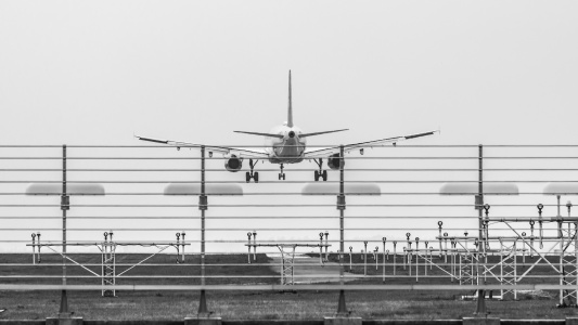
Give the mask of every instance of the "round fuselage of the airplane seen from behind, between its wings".
[[283, 135], [283, 139], [266, 136], [265, 150], [272, 164], [296, 164], [304, 159], [306, 139], [300, 139], [301, 130], [286, 125], [274, 127], [271, 134]]

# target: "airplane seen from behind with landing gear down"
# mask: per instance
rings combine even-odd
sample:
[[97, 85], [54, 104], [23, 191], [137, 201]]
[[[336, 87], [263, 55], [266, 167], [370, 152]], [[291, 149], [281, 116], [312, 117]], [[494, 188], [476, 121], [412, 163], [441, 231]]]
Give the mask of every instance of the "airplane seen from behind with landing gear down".
[[[226, 146], [216, 146], [216, 145], [205, 145], [205, 150], [208, 152], [209, 157], [213, 157], [213, 153], [218, 153], [218, 154], [223, 155], [223, 157], [226, 158], [224, 168], [231, 172], [240, 171], [243, 167], [243, 159], [249, 158], [248, 165], [249, 165], [251, 171], [247, 171], [245, 176], [247, 183], [251, 182], [251, 180], [254, 180], [255, 183], [259, 182], [259, 173], [257, 171], [254, 171], [255, 165], [257, 165], [259, 160], [269, 160], [269, 162], [271, 164], [279, 164], [281, 168], [281, 172], [279, 173], [279, 180], [285, 180], [285, 173], [283, 172], [284, 164], [297, 164], [297, 162], [301, 162], [304, 159], [309, 159], [309, 160], [312, 159], [319, 166], [319, 170], [314, 171], [316, 182], [319, 181], [319, 179], [323, 179], [323, 181], [327, 180], [327, 171], [323, 170], [323, 158], [327, 159], [329, 168], [333, 170], [339, 169], [339, 151], [341, 151], [339, 146], [323, 147], [323, 148], [316, 147], [316, 148], [307, 150], [307, 145], [306, 145], [307, 138], [313, 136], [313, 135], [325, 134], [325, 133], [346, 131], [348, 129], [304, 133], [299, 128], [294, 126], [293, 125], [293, 107], [291, 103], [291, 99], [292, 99], [291, 70], [290, 70], [288, 77], [290, 77], [288, 109], [287, 109], [287, 121], [286, 122], [284, 122], [282, 126], [274, 127], [269, 133], [233, 131], [236, 133], [246, 133], [246, 134], [265, 136], [266, 145], [264, 147], [244, 148], [244, 147], [226, 147]], [[346, 144], [344, 145], [344, 151], [345, 153], [349, 153], [354, 150], [359, 150], [360, 154], [363, 155], [364, 147], [384, 146], [387, 144], [393, 144], [395, 146], [400, 141], [415, 139], [415, 138], [425, 136], [425, 135], [432, 135], [436, 132], [437, 131], [431, 131], [431, 132], [425, 132], [425, 133], [385, 138], [385, 139]], [[180, 150], [181, 147], [188, 147], [188, 146], [196, 147], [196, 148], [201, 147], [200, 144], [188, 143], [188, 142], [158, 140], [158, 139], [139, 136], [139, 135], [134, 135], [134, 138], [142, 140], [142, 141], [172, 145], [172, 146], [176, 146], [177, 150]]]

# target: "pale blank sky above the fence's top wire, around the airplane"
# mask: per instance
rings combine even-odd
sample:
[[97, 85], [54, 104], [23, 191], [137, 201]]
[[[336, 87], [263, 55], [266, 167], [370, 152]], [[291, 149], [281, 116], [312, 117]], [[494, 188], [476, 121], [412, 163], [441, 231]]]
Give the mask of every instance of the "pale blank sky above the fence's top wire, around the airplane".
[[297, 126], [350, 129], [309, 144], [437, 128], [413, 144], [576, 143], [577, 10], [575, 1], [2, 1], [0, 144], [142, 144], [133, 132], [261, 144], [231, 131], [286, 119], [288, 69]]

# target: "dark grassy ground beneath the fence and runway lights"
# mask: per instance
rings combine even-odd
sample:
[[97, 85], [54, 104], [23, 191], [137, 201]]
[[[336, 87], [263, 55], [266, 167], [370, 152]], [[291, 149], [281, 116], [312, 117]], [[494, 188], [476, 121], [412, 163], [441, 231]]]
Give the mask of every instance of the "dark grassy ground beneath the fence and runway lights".
[[[142, 255], [118, 255], [117, 264], [132, 263], [142, 259]], [[313, 256], [319, 259], [318, 256]], [[62, 259], [54, 255], [43, 255], [41, 264], [31, 265], [30, 255], [0, 256], [3, 283], [59, 283]], [[77, 261], [93, 263], [93, 271], [100, 271], [100, 255], [73, 256]], [[330, 256], [335, 261], [336, 256]], [[348, 261], [348, 260], [347, 260]], [[371, 259], [370, 261], [373, 262]], [[133, 276], [155, 275], [155, 278], [119, 278], [118, 284], [197, 284], [198, 278], [170, 278], [167, 275], [198, 275], [197, 257], [187, 257], [187, 263], [177, 264], [175, 256], [157, 256], [147, 261], [158, 266], [138, 266], [130, 271]], [[257, 260], [246, 264], [246, 255], [222, 255], [207, 257], [207, 274], [224, 276], [208, 278], [208, 284], [271, 284], [279, 283], [279, 273], [270, 266], [272, 259], [257, 255]], [[354, 256], [351, 273], [363, 274], [361, 257]], [[529, 263], [530, 260], [527, 261]], [[223, 265], [236, 264], [236, 265]], [[371, 264], [371, 263], [370, 263]], [[52, 266], [51, 266], [52, 265]], [[393, 268], [388, 264], [389, 268]], [[117, 273], [128, 266], [117, 266]], [[331, 266], [332, 268], [332, 266]], [[423, 266], [422, 266], [423, 268]], [[527, 265], [518, 265], [523, 271]], [[348, 268], [347, 268], [348, 269]], [[368, 275], [381, 275], [382, 269], [375, 264], [368, 268]], [[398, 265], [398, 275], [403, 273]], [[440, 272], [429, 271], [429, 274]], [[552, 275], [548, 269], [537, 270], [537, 275]], [[12, 278], [11, 274], [40, 275], [52, 274], [50, 280]], [[68, 274], [89, 275], [88, 272], [68, 264]], [[259, 277], [240, 277], [255, 276]], [[72, 278], [72, 283], [100, 284], [98, 278]], [[557, 283], [555, 278], [529, 278], [526, 283]], [[382, 284], [378, 277], [362, 277], [349, 282], [352, 284]], [[388, 278], [387, 283], [415, 283], [415, 277]], [[448, 278], [420, 278], [421, 284], [445, 283]], [[476, 301], [464, 301], [460, 297], [472, 292], [462, 291], [346, 291], [347, 309], [355, 315], [364, 318], [398, 318], [398, 320], [434, 320], [461, 318], [472, 316]], [[223, 318], [261, 318], [261, 320], [321, 320], [332, 315], [337, 309], [336, 291], [233, 291], [207, 292], [208, 309]], [[518, 296], [518, 301], [508, 298], [506, 301], [491, 300], [487, 302], [492, 316], [501, 318], [549, 318], [563, 320], [576, 316], [576, 309], [557, 309], [557, 291], [526, 292]], [[57, 313], [60, 292], [53, 291], [0, 291], [0, 318], [35, 320], [53, 316]], [[116, 298], [101, 297], [100, 291], [70, 291], [68, 296], [70, 311], [85, 320], [182, 320], [195, 315], [198, 309], [198, 292], [184, 291], [118, 291]]]

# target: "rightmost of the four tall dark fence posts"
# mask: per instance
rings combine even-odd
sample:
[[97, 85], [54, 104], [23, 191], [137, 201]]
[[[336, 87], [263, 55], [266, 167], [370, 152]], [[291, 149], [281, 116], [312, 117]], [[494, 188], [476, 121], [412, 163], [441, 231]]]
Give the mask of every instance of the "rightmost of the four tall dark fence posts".
[[[484, 208], [484, 146], [481, 144], [478, 145], [478, 183], [477, 183], [477, 199], [476, 199], [476, 209], [478, 212], [478, 245], [477, 245], [477, 253], [476, 253], [476, 284], [479, 285], [480, 280], [480, 268], [479, 268], [479, 260], [481, 259], [481, 251], [484, 249], [481, 243], [484, 238], [484, 212], [481, 211]], [[485, 265], [483, 265], [485, 268]], [[485, 283], [484, 283], [485, 284]], [[477, 308], [476, 312], [474, 313], [476, 315], [486, 315], [488, 314], [488, 311], [486, 309], [486, 292], [484, 289], [477, 290]]]

